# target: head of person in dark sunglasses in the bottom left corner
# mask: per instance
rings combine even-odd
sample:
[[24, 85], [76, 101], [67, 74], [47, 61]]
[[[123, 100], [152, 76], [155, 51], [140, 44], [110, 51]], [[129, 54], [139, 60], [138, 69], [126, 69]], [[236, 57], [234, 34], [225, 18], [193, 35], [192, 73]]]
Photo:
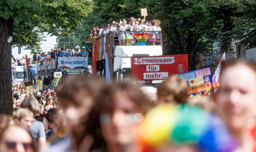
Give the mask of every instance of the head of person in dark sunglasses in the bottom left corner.
[[32, 136], [23, 127], [8, 126], [0, 135], [0, 151], [34, 152]]

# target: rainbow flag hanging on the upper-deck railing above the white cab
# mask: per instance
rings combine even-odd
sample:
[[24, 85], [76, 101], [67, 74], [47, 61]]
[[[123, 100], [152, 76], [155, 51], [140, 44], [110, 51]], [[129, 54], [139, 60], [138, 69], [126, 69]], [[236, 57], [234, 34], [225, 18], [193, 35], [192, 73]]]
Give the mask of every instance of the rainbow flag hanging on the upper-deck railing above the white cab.
[[126, 33], [126, 45], [127, 46], [145, 46], [147, 44], [148, 33]]

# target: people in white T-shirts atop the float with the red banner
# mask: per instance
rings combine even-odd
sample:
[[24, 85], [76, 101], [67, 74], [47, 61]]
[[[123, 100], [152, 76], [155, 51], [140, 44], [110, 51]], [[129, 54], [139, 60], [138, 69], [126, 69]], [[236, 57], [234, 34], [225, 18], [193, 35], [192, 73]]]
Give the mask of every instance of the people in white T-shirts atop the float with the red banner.
[[112, 21], [110, 24], [103, 23], [100, 27], [93, 27], [91, 30], [91, 37], [99, 38], [109, 32], [115, 32], [114, 38], [119, 41], [119, 46], [125, 46], [125, 31], [141, 31], [142, 33], [153, 31], [153, 33], [149, 33], [148, 41], [149, 45], [155, 45], [155, 41], [157, 40], [155, 35], [157, 35], [157, 32], [154, 31], [158, 31], [158, 27], [155, 25], [155, 19], [148, 21], [144, 16], [144, 19], [130, 17], [127, 21], [123, 19], [123, 21], [120, 20], [120, 22]]

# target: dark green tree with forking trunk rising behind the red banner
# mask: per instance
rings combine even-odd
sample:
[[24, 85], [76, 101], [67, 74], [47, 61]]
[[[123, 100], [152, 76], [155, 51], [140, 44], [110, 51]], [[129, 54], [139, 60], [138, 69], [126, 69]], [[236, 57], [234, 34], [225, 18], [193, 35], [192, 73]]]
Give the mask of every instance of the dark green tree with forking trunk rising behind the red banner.
[[149, 18], [161, 21], [161, 28], [177, 54], [189, 54], [193, 63], [190, 69], [195, 69], [196, 53], [205, 49], [195, 50], [197, 43], [219, 31], [211, 9], [200, 0], [173, 0], [168, 5], [164, 0], [148, 0], [142, 4], [148, 8]]

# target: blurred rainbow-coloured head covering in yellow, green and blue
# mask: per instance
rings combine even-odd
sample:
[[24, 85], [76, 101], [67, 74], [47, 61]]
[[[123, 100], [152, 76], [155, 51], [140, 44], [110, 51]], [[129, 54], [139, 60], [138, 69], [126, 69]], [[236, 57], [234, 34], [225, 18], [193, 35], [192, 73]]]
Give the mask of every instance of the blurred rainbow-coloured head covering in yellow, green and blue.
[[139, 133], [143, 152], [221, 152], [235, 146], [218, 116], [186, 104], [161, 104], [151, 109]]

